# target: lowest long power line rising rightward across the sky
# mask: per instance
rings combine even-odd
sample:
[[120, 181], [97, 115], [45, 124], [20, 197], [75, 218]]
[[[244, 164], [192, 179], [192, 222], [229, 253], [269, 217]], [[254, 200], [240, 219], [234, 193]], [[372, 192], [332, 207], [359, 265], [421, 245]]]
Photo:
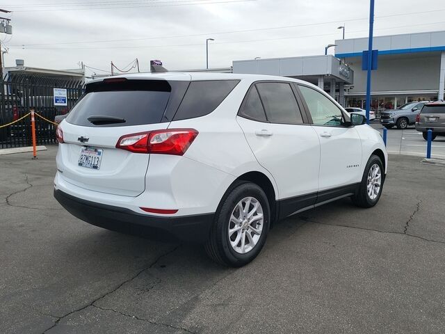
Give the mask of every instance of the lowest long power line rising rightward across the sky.
[[[408, 28], [411, 26], [427, 26], [431, 24], [444, 24], [445, 22], [430, 22], [430, 23], [424, 23], [424, 24], [410, 24], [406, 26], [391, 26], [387, 28], [380, 28], [375, 29], [377, 31], [379, 30], [388, 30], [388, 29], [398, 29], [398, 28]], [[357, 30], [357, 31], [349, 31], [348, 33], [363, 33], [367, 30]], [[321, 37], [321, 36], [328, 36], [328, 35], [337, 35], [338, 33], [321, 33], [316, 35], [299, 35], [299, 36], [289, 36], [289, 37], [282, 37], [282, 38], [261, 38], [261, 39], [255, 39], [255, 40], [236, 40], [236, 41], [227, 41], [227, 42], [214, 42], [213, 45], [223, 45], [223, 44], [235, 44], [235, 43], [246, 43], [246, 42], [266, 42], [271, 40], [289, 40], [289, 39], [295, 39], [295, 38], [312, 38], [312, 37]], [[48, 48], [48, 47], [35, 47], [30, 48], [31, 50], [37, 50], [37, 49], [145, 49], [145, 48], [157, 48], [157, 47], [191, 47], [191, 46], [200, 46], [204, 45], [205, 43], [191, 43], [191, 44], [177, 44], [177, 45], [136, 45], [136, 46], [118, 46], [118, 47], [55, 47], [55, 48]]]

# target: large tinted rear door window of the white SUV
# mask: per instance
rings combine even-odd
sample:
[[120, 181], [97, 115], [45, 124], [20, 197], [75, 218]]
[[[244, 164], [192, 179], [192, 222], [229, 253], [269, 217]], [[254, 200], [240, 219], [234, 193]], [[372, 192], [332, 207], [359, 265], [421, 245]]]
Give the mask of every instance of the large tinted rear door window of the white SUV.
[[257, 89], [269, 122], [281, 124], [302, 123], [300, 108], [298, 108], [290, 84], [262, 82], [257, 84]]

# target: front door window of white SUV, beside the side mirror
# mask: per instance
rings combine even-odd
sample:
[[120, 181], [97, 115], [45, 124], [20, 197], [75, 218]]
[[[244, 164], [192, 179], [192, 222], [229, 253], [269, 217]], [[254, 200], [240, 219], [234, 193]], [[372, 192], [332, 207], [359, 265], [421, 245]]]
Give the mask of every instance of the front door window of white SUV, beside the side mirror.
[[314, 125], [331, 127], [340, 127], [343, 125], [343, 114], [334, 102], [315, 89], [306, 86], [298, 87], [305, 98]]

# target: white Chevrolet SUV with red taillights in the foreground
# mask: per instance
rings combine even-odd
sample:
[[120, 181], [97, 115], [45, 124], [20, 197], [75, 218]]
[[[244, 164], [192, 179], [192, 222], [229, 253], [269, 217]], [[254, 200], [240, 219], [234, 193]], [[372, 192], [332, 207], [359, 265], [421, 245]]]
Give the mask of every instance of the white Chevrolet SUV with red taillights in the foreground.
[[202, 242], [213, 260], [240, 267], [282, 218], [343, 197], [378, 202], [385, 145], [351, 117], [284, 77], [91, 81], [57, 129], [54, 196], [93, 225]]

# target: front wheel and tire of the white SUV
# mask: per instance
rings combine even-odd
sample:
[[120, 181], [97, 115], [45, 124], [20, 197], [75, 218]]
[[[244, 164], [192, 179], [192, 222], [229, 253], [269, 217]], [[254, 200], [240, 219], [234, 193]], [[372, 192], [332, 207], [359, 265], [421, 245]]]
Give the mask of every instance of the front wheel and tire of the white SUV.
[[[380, 187], [378, 189], [378, 193], [376, 194], [371, 193], [370, 195], [368, 192], [368, 177], [370, 173], [372, 174], [371, 168], [375, 168], [375, 166], [378, 166], [378, 170], [380, 170]], [[377, 155], [373, 154], [369, 158], [366, 167], [364, 168], [362, 182], [360, 182], [359, 189], [357, 190], [357, 193], [355, 193], [355, 195], [352, 197], [354, 204], [357, 205], [358, 207], [373, 207], [374, 205], [376, 205], [378, 200], [380, 199], [380, 196], [382, 195], [384, 183], [385, 183], [385, 170], [383, 169], [382, 160], [380, 160], [380, 158]], [[377, 184], [377, 182], [372, 184]]]

